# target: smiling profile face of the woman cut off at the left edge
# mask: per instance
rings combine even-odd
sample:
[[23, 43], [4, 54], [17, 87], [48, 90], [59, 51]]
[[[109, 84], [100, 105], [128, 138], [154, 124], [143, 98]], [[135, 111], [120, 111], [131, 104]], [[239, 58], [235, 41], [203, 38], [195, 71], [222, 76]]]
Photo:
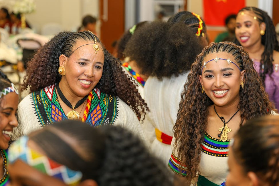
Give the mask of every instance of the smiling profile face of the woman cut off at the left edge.
[[19, 97], [15, 92], [10, 92], [0, 99], [0, 148], [7, 149], [11, 140], [11, 133], [14, 127], [18, 125], [16, 112]]

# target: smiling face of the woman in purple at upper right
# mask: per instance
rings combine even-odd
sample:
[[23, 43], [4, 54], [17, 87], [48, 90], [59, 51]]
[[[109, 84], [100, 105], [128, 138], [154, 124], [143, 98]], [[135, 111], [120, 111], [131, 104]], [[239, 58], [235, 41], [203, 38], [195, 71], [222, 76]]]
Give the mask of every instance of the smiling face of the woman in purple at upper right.
[[[256, 19], [254, 19], [256, 18]], [[236, 39], [243, 47], [260, 45], [262, 35], [260, 30], [265, 30], [265, 23], [257, 21], [256, 14], [251, 11], [242, 11], [236, 17]]]

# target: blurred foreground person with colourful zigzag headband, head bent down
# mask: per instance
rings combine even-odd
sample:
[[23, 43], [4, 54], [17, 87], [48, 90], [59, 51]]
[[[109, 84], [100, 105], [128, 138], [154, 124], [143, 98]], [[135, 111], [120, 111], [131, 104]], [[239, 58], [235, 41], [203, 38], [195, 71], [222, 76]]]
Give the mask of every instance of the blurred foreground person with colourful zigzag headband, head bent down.
[[77, 120], [19, 138], [9, 149], [8, 168], [11, 186], [171, 185], [159, 161], [132, 133], [119, 126], [92, 128]]

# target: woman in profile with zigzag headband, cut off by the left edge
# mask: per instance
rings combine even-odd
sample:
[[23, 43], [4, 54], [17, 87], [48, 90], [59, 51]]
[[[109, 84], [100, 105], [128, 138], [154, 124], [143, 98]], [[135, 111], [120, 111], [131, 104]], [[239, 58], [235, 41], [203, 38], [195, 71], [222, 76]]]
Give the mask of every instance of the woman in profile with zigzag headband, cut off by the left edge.
[[18, 90], [13, 83], [0, 71], [0, 186], [7, 185], [9, 172], [7, 170], [7, 150], [13, 128], [17, 126]]

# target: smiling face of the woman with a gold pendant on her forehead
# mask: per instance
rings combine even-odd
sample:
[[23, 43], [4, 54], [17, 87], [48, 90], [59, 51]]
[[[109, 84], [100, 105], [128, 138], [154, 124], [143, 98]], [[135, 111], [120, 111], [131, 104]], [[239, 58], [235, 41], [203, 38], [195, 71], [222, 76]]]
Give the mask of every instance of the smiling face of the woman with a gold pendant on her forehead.
[[[67, 92], [74, 97], [84, 97], [89, 94], [102, 77], [104, 53], [102, 49], [95, 53], [93, 44], [90, 43], [94, 41], [78, 40], [72, 51], [84, 46], [78, 48], [68, 58], [64, 55], [59, 58], [60, 66], [64, 66], [66, 70], [59, 85], [66, 88]], [[100, 43], [97, 44], [101, 46]]]

